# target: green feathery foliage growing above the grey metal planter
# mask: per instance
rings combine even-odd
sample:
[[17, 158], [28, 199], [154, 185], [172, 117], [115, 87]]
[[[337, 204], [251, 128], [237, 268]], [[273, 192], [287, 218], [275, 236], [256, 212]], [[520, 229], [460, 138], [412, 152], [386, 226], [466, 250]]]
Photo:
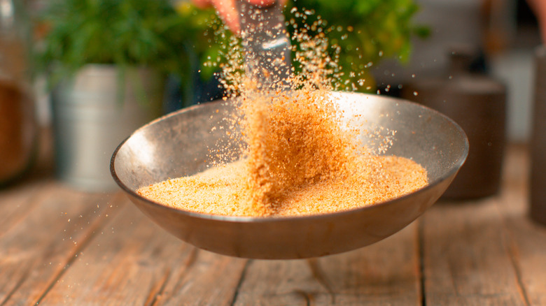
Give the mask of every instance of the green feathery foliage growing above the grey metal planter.
[[38, 21], [36, 68], [50, 85], [86, 64], [148, 66], [190, 78], [192, 52], [207, 48], [202, 36], [210, 10], [176, 12], [169, 0], [53, 0]]

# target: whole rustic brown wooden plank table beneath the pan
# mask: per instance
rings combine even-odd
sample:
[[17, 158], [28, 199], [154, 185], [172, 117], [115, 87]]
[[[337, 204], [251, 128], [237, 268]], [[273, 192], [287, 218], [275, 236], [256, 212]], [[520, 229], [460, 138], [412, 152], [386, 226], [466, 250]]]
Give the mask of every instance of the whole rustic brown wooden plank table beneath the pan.
[[0, 191], [0, 305], [546, 305], [527, 162], [511, 146], [498, 196], [436, 203], [375, 245], [293, 261], [195, 249], [120, 192], [74, 191], [42, 164]]

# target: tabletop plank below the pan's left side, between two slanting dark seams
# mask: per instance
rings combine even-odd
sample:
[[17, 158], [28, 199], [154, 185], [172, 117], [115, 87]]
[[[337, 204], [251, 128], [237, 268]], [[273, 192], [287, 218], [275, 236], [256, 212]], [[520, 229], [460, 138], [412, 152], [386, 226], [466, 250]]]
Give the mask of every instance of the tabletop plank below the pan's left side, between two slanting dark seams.
[[229, 305], [244, 263], [197, 250], [127, 205], [41, 305]]

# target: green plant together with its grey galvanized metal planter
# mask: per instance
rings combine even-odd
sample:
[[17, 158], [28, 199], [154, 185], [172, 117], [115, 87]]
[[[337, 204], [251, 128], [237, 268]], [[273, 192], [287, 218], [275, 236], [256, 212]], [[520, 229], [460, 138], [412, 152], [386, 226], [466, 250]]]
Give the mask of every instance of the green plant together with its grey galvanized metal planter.
[[189, 52], [204, 48], [210, 12], [191, 11], [169, 0], [55, 0], [45, 8], [36, 68], [52, 89], [58, 177], [89, 191], [113, 187], [116, 145], [162, 114], [167, 75], [188, 83]]

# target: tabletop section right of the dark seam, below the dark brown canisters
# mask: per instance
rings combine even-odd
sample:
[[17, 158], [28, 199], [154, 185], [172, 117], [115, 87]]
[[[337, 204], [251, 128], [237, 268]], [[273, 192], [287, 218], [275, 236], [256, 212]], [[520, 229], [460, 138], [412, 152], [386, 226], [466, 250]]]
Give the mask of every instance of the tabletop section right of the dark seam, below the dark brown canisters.
[[545, 305], [546, 228], [526, 217], [526, 151], [507, 152], [500, 194], [422, 217], [430, 305]]

